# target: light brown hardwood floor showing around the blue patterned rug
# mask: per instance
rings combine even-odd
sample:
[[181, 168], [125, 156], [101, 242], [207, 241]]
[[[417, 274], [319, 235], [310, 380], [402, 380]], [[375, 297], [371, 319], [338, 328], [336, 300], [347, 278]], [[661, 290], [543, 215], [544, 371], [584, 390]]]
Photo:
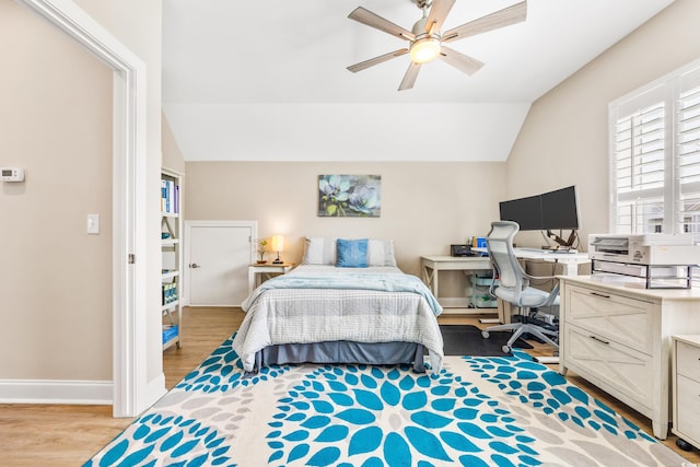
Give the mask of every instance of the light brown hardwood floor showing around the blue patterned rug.
[[[243, 319], [240, 308], [185, 308], [183, 347], [163, 353], [163, 370], [168, 389], [194, 370], [209, 353], [237, 329]], [[441, 324], [472, 324], [485, 327], [479, 316], [443, 315]], [[533, 355], [548, 355], [547, 346], [530, 342]], [[584, 380], [568, 380], [617, 410], [651, 434], [648, 418], [627, 408]], [[0, 405], [1, 466], [79, 466], [124, 430], [132, 419], [115, 419], [110, 406]], [[684, 456], [689, 465], [700, 465], [700, 452], [688, 453], [676, 446], [676, 436], [664, 441]]]

